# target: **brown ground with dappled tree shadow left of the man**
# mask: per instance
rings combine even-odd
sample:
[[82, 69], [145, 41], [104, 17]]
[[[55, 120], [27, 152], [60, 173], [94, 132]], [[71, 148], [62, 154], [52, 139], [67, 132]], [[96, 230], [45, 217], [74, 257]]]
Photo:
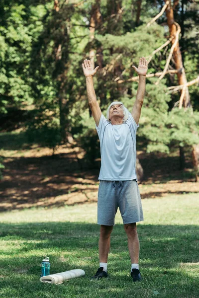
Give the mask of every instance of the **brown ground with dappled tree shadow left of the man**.
[[[69, 193], [77, 193], [74, 203], [92, 202], [92, 199], [85, 197], [83, 192], [97, 191], [95, 184], [99, 183], [98, 171], [80, 171], [73, 152], [56, 154], [53, 158], [52, 156], [9, 157], [4, 165], [0, 197], [0, 202], [3, 204], [0, 206], [0, 212], [24, 209], [23, 204], [28, 208], [36, 204], [62, 207], [69, 205], [68, 198], [61, 200], [54, 200], [54, 198]], [[87, 179], [87, 183], [82, 182], [81, 179]], [[73, 185], [76, 185], [75, 189]], [[80, 196], [79, 201], [78, 196]], [[73, 201], [70, 202], [70, 205], [72, 204]]]

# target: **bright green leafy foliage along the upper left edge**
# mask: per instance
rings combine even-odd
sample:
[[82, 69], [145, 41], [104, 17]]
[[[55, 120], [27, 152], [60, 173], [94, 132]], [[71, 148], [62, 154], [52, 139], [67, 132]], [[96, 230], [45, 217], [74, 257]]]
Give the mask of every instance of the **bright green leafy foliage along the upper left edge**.
[[17, 1], [0, 4], [0, 112], [3, 113], [6, 106], [33, 102], [31, 79], [27, 76], [32, 36], [27, 22], [29, 11], [24, 4]]

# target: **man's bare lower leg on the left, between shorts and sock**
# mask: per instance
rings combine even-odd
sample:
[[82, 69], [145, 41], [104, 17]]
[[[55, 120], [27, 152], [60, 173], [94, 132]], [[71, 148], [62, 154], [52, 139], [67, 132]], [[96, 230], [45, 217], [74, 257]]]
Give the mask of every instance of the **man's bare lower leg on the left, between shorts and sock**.
[[99, 240], [99, 256], [100, 263], [107, 263], [108, 253], [110, 249], [110, 234], [113, 225], [102, 225], [100, 227], [100, 240]]

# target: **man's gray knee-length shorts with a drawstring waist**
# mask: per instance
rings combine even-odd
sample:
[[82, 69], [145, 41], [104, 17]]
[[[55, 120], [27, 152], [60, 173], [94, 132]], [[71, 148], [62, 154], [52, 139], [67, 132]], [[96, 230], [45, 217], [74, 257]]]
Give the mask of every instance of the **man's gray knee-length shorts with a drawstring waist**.
[[100, 180], [98, 191], [98, 224], [114, 225], [117, 208], [123, 224], [144, 220], [136, 179], [127, 181]]

